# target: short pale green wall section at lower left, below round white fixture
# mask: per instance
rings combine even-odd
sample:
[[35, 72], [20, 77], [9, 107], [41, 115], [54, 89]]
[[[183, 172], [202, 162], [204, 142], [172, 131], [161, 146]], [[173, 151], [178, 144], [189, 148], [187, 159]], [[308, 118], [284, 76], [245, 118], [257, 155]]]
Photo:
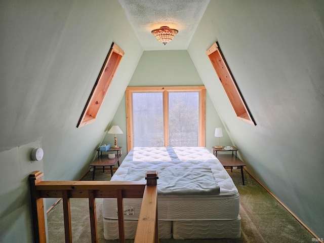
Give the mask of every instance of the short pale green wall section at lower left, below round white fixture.
[[[32, 242], [29, 174], [44, 171], [43, 160], [33, 161], [31, 151], [40, 141], [0, 152], [0, 241]], [[46, 204], [45, 204], [46, 206]]]

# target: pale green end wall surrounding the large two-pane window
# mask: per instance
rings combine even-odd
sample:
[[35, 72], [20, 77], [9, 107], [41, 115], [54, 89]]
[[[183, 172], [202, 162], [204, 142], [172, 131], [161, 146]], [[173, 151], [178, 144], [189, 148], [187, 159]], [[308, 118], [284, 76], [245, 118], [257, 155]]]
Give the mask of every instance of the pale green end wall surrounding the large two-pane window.
[[[186, 50], [177, 51], [144, 51], [132, 76], [129, 86], [196, 86], [202, 85], [201, 79], [193, 65], [193, 62]], [[117, 140], [123, 146], [123, 153], [126, 154], [126, 103], [125, 97], [120, 102], [112, 125], [118, 125], [124, 134], [118, 134]], [[206, 97], [206, 147], [211, 149], [217, 144], [215, 128], [222, 126], [221, 120], [207, 95]], [[223, 137], [220, 143], [232, 145], [223, 128]], [[114, 135], [107, 134], [104, 143], [113, 144]], [[125, 149], [124, 149], [125, 148]]]

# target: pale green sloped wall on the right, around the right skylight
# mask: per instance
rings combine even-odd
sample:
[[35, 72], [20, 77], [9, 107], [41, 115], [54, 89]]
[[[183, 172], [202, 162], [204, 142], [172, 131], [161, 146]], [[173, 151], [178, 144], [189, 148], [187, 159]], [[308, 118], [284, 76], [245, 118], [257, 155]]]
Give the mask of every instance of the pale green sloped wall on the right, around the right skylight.
[[[324, 237], [322, 4], [212, 0], [188, 48], [247, 169], [320, 238]], [[206, 55], [216, 41], [257, 126], [235, 117]]]

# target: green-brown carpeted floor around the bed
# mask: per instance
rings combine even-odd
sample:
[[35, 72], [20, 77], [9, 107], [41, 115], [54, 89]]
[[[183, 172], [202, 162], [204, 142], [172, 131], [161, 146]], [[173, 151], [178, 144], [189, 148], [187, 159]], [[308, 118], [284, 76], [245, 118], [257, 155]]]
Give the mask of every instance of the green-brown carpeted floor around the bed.
[[[160, 239], [160, 243], [212, 243], [212, 242], [312, 242], [314, 237], [284, 207], [282, 207], [260, 184], [245, 172], [242, 185], [240, 170], [227, 170], [240, 194], [240, 239]], [[96, 180], [110, 180], [110, 172], [96, 172]], [[92, 180], [92, 172], [83, 180]], [[71, 198], [72, 239], [75, 243], [91, 242], [89, 204], [85, 198]], [[99, 243], [117, 243], [103, 237], [102, 199], [96, 199]], [[48, 214], [50, 243], [64, 242], [63, 208], [60, 202]], [[127, 240], [132, 243], [133, 240]]]

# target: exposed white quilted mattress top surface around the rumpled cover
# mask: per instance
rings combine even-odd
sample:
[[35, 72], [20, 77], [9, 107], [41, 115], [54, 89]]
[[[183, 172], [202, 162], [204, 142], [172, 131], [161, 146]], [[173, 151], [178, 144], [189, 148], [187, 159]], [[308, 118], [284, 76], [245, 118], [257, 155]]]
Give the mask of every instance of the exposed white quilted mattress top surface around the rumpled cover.
[[[130, 167], [142, 167], [145, 171], [145, 168], [150, 165], [183, 168], [208, 167], [212, 169], [215, 180], [220, 186], [220, 195], [238, 193], [220, 161], [205, 147], [134, 147], [114, 173], [111, 181], [124, 181]], [[161, 179], [163, 180], [159, 178]]]

